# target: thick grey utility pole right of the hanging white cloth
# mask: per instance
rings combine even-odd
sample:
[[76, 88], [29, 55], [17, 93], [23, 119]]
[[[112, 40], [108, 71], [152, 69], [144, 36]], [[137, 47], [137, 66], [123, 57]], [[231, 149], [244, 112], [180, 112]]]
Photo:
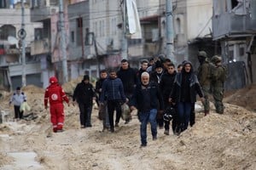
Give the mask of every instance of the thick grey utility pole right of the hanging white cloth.
[[177, 64], [173, 55], [173, 22], [172, 22], [172, 0], [166, 0], [166, 57]]

